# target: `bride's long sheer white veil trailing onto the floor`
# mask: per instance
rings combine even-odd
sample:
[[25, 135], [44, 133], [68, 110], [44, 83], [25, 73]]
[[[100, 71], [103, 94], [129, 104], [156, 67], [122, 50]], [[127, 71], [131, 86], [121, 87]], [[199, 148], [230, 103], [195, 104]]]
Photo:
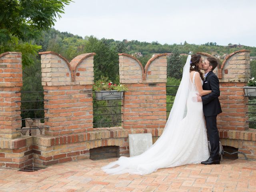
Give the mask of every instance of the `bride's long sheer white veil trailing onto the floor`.
[[[194, 138], [186, 129], [187, 122], [183, 122], [186, 114], [186, 103], [191, 90], [189, 55], [183, 68], [182, 80], [178, 88], [172, 110], [162, 135], [144, 153], [133, 157], [120, 157], [102, 170], [108, 174], [149, 174], [159, 168], [180, 166], [189, 163], [191, 146], [190, 138]], [[185, 125], [184, 125], [185, 123]], [[186, 134], [184, 134], [186, 132]], [[195, 138], [197, 139], [197, 138]]]

